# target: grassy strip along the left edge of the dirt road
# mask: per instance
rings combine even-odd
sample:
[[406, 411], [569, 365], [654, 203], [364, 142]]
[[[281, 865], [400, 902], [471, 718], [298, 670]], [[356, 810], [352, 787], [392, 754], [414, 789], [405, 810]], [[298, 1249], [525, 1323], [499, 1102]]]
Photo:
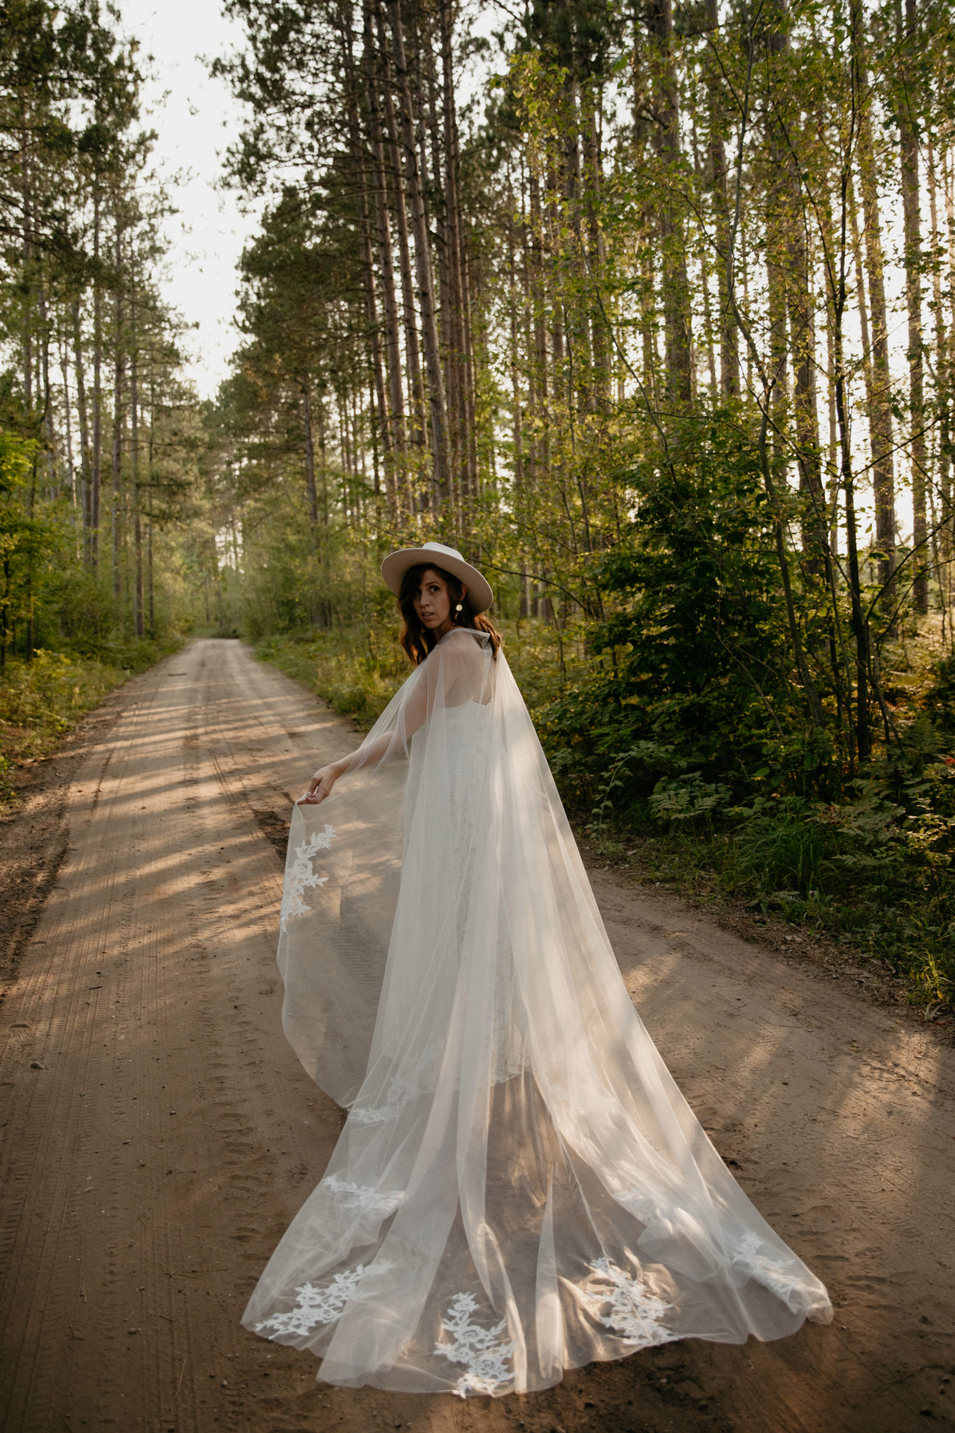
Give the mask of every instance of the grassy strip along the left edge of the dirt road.
[[0, 808], [16, 795], [9, 781], [14, 767], [47, 757], [107, 692], [179, 645], [170, 638], [127, 642], [96, 656], [36, 652], [31, 662], [7, 658], [0, 671]]

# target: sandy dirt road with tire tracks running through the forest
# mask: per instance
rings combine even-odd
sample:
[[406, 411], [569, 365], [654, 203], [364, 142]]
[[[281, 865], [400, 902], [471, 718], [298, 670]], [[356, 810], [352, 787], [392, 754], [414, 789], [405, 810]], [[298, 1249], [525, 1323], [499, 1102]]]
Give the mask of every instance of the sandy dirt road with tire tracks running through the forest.
[[835, 1324], [495, 1403], [328, 1389], [239, 1327], [341, 1126], [282, 1037], [268, 834], [354, 741], [239, 643], [196, 642], [129, 684], [74, 772], [66, 860], [0, 1013], [4, 1433], [951, 1426], [955, 1052], [607, 873], [651, 1033]]

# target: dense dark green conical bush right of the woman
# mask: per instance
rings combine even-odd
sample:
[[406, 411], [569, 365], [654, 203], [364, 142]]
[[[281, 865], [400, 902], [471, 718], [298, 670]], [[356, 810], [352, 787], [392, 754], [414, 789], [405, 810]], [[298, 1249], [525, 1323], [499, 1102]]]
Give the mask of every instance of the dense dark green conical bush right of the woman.
[[[629, 481], [631, 522], [593, 565], [604, 616], [588, 629], [588, 672], [540, 712], [564, 797], [591, 808], [611, 772], [623, 820], [836, 797], [839, 754], [805, 719], [753, 441], [720, 413], [687, 421], [666, 460], [650, 454]], [[793, 582], [819, 645], [796, 565]]]

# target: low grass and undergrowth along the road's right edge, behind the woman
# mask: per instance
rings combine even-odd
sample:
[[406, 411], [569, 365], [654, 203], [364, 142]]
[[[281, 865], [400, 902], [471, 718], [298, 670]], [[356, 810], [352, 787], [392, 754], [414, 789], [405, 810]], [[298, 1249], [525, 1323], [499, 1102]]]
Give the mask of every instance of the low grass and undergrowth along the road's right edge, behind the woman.
[[[594, 704], [606, 674], [583, 642], [550, 625], [501, 620], [508, 662], [531, 709], [577, 833], [611, 866], [699, 901], [823, 936], [881, 962], [926, 1020], [955, 993], [955, 662], [899, 642], [896, 751], [845, 775], [838, 794], [800, 791], [806, 752], [783, 744], [745, 781], [707, 780], [686, 742], [621, 741]], [[407, 676], [394, 633], [368, 626], [285, 633], [256, 645], [334, 711], [367, 731]], [[619, 675], [619, 674], [617, 674]], [[586, 721], [584, 714], [590, 715]], [[739, 714], [740, 716], [743, 714]], [[740, 745], [743, 737], [740, 732]], [[798, 742], [795, 744], [799, 745]], [[795, 759], [795, 758], [799, 759]], [[710, 762], [712, 765], [712, 762]]]

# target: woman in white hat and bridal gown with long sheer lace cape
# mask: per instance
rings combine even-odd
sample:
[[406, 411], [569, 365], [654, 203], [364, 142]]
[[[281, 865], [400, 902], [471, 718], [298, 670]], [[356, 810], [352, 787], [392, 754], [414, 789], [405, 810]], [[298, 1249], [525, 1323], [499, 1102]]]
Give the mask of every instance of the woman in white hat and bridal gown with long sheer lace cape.
[[281, 914], [285, 1032], [349, 1113], [243, 1324], [464, 1397], [828, 1323], [633, 1009], [487, 580], [441, 543], [382, 576], [414, 671], [295, 807]]

